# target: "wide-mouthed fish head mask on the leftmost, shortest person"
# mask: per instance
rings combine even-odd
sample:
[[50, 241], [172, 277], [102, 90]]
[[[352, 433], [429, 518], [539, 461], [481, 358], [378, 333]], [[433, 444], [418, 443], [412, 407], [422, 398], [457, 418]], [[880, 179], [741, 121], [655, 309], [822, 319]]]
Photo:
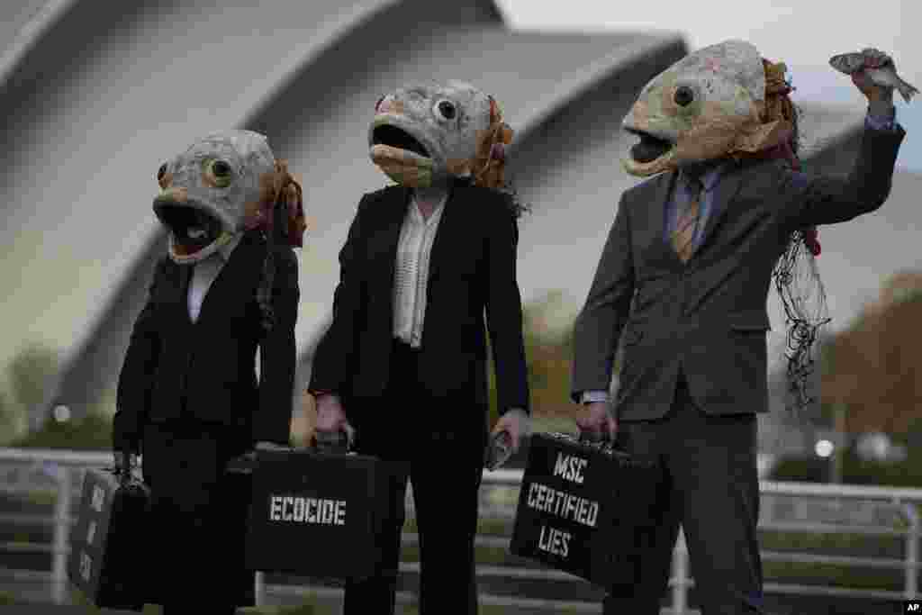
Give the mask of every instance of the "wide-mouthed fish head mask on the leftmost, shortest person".
[[[170, 233], [177, 263], [198, 262], [243, 231], [272, 231], [274, 221], [288, 227], [291, 245], [301, 245], [301, 183], [275, 159], [266, 136], [249, 130], [205, 136], [164, 163], [158, 183], [154, 213]], [[278, 220], [280, 206], [287, 220]]]

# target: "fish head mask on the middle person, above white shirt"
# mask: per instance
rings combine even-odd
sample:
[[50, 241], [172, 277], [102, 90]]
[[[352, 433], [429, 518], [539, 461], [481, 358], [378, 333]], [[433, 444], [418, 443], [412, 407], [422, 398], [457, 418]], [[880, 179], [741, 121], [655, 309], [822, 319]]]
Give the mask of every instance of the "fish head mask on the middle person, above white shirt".
[[411, 85], [382, 97], [368, 130], [370, 156], [396, 183], [429, 187], [453, 178], [502, 184], [513, 131], [499, 104], [474, 86]]

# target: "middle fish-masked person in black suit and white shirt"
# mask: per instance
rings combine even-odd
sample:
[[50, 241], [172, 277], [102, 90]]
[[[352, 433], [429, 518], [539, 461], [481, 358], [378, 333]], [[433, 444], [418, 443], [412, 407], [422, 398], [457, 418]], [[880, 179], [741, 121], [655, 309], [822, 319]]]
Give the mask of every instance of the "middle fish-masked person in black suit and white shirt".
[[[348, 430], [390, 481], [384, 569], [349, 583], [345, 613], [393, 613], [408, 479], [420, 612], [476, 613], [474, 537], [487, 444], [487, 343], [513, 448], [527, 430], [516, 209], [502, 181], [511, 130], [467, 84], [378, 102], [372, 160], [400, 185], [364, 195], [339, 253], [333, 322], [313, 357], [318, 432]], [[463, 122], [462, 122], [463, 120]]]

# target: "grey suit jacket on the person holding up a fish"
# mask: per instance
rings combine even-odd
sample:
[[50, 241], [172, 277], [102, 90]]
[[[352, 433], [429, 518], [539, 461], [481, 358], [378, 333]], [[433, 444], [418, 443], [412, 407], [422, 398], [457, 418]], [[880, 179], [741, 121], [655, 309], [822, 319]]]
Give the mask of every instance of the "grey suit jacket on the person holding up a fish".
[[573, 399], [608, 390], [623, 329], [615, 400], [622, 420], [664, 416], [680, 371], [705, 412], [767, 411], [765, 303], [774, 265], [793, 231], [881, 207], [903, 137], [902, 128], [866, 128], [847, 177], [804, 181], [777, 160], [727, 172], [703, 242], [686, 264], [663, 237], [678, 173], [625, 191], [576, 321]]

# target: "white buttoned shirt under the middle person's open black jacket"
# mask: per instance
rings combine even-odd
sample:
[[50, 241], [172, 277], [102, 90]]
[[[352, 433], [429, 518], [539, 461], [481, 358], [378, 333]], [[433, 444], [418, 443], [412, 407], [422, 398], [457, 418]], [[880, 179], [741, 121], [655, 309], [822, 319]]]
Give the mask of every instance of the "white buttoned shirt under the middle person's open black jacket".
[[426, 314], [426, 289], [429, 283], [429, 259], [432, 242], [439, 229], [439, 220], [446, 196], [423, 219], [416, 196], [410, 199], [394, 267], [394, 337], [413, 348], [422, 344], [422, 322]]

